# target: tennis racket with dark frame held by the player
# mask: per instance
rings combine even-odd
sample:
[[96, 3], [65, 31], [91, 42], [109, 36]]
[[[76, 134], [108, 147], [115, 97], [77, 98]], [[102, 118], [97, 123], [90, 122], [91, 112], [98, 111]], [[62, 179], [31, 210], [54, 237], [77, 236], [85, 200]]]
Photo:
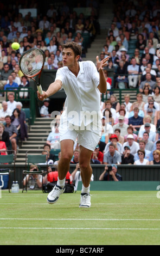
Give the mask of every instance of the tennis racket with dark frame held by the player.
[[[44, 66], [44, 54], [39, 48], [31, 48], [25, 51], [20, 58], [20, 69], [24, 76], [34, 80], [37, 84], [37, 90], [43, 94], [40, 84], [40, 76]], [[37, 82], [33, 77], [39, 75]]]

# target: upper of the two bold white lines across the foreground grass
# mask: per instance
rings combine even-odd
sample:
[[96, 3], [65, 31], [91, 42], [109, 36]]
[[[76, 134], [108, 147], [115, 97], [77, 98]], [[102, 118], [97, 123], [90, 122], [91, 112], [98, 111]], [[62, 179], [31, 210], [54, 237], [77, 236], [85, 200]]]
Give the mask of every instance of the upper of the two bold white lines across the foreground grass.
[[0, 218], [0, 221], [160, 221], [160, 219], [135, 218]]

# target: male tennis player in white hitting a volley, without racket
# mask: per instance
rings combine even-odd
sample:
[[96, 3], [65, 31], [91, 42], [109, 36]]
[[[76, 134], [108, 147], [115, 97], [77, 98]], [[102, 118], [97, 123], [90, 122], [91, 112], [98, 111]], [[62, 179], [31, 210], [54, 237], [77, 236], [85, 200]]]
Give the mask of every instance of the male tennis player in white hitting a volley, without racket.
[[81, 46], [69, 42], [62, 47], [63, 68], [56, 72], [55, 82], [47, 91], [37, 95], [40, 100], [63, 88], [67, 95], [60, 120], [61, 159], [58, 165], [57, 185], [48, 194], [47, 202], [54, 204], [65, 191], [65, 177], [73, 156], [73, 146], [78, 137], [80, 147], [79, 164], [82, 178], [80, 208], [91, 207], [89, 194], [92, 168], [91, 155], [101, 135], [100, 93], [106, 93], [103, 68], [108, 57], [99, 62], [97, 68], [91, 61], [79, 62]]

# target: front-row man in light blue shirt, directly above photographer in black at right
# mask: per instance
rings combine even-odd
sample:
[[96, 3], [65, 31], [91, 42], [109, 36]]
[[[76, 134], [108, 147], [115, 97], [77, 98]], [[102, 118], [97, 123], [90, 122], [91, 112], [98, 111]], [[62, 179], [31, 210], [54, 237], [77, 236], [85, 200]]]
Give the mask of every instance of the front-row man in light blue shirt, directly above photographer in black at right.
[[109, 145], [109, 150], [106, 151], [104, 154], [104, 164], [120, 164], [121, 163], [121, 155], [120, 153], [116, 150], [116, 146], [111, 143]]

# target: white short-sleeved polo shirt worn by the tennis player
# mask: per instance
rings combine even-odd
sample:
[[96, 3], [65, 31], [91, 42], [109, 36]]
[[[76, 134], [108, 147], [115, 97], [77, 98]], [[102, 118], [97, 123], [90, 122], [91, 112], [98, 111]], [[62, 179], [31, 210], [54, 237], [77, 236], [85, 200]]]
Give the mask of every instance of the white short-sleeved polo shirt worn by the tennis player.
[[98, 71], [91, 61], [79, 62], [80, 71], [76, 77], [67, 66], [56, 72], [55, 80], [62, 81], [62, 88], [67, 95], [65, 110], [61, 120], [69, 123], [85, 126], [96, 123], [102, 118], [100, 111], [100, 92]]

